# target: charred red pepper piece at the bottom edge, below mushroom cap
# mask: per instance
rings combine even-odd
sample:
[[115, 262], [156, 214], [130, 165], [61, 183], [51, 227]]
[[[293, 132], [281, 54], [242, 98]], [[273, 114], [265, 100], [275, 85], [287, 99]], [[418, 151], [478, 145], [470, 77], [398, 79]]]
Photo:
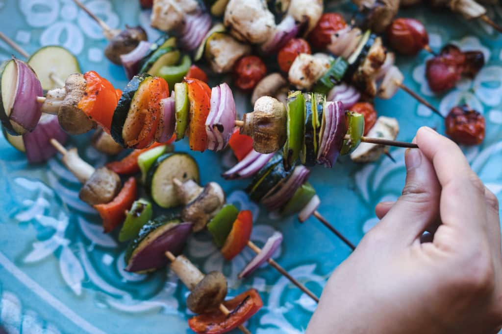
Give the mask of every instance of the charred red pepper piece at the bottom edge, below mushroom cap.
[[262, 298], [255, 289], [249, 289], [223, 302], [230, 314], [221, 311], [199, 314], [188, 319], [190, 328], [199, 334], [221, 334], [229, 332], [244, 323], [263, 306]]

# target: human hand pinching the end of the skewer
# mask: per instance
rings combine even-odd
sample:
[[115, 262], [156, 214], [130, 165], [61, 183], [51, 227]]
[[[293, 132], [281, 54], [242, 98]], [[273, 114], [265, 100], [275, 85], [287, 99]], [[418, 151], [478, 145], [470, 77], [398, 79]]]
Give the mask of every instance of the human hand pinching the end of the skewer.
[[403, 195], [376, 207], [381, 221], [333, 272], [307, 334], [500, 329], [497, 199], [451, 140], [424, 127], [414, 141]]

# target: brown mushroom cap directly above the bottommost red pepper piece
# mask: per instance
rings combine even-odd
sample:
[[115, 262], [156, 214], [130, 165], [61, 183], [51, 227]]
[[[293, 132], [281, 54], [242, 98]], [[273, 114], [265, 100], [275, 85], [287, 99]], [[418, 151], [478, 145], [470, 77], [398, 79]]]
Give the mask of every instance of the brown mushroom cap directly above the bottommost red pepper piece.
[[209, 272], [187, 297], [188, 308], [195, 313], [205, 313], [218, 308], [227, 292], [226, 278], [219, 271]]

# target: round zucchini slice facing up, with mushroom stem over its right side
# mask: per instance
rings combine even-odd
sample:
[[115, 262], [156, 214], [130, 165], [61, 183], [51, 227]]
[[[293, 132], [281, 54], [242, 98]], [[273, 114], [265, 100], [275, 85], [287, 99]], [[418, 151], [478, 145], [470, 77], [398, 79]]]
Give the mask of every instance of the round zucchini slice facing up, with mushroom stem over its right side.
[[180, 205], [173, 186], [173, 179], [181, 182], [194, 180], [199, 182], [199, 167], [187, 153], [167, 153], [161, 155], [150, 168], [146, 185], [157, 205], [171, 208]]

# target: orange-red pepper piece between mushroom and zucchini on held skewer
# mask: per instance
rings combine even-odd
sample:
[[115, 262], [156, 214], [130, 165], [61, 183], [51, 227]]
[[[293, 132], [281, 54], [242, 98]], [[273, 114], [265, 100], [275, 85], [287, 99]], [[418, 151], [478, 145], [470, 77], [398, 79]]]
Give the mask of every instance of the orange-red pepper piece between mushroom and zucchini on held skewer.
[[78, 108], [85, 115], [110, 133], [113, 112], [118, 103], [117, 92], [110, 82], [94, 71], [84, 74], [85, 94], [78, 102]]

